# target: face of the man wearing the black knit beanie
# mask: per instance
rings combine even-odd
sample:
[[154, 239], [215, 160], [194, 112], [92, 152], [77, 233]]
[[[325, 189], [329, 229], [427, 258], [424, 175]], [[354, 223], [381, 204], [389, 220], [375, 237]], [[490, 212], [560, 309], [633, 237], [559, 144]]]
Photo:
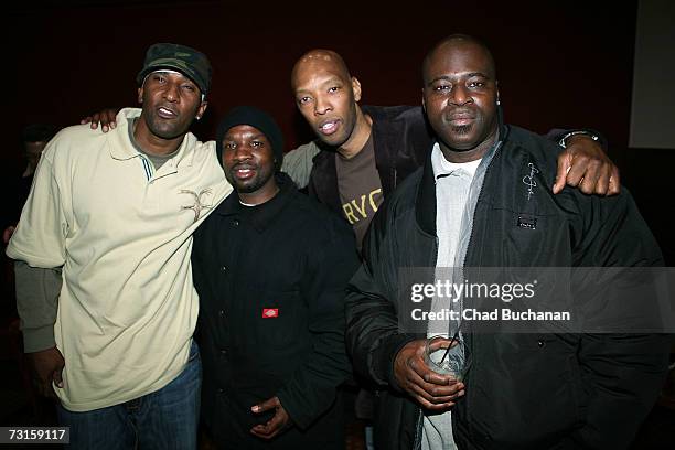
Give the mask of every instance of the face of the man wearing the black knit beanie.
[[262, 131], [249, 125], [232, 127], [223, 138], [225, 178], [243, 202], [265, 203], [277, 192], [275, 153]]

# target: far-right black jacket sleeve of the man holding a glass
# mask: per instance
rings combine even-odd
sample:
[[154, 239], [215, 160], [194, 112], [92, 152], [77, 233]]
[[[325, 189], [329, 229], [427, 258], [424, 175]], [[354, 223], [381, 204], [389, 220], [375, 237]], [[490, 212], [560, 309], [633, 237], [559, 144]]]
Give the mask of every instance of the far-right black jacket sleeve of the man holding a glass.
[[[592, 213], [583, 215], [583, 237], [575, 248], [578, 266], [620, 270], [663, 266], [656, 240], [625, 189], [615, 197], [586, 201]], [[625, 276], [630, 274], [625, 271]], [[607, 308], [620, 308], [611, 304], [618, 297], [625, 298], [607, 294]], [[653, 308], [656, 299], [639, 301]], [[647, 333], [582, 335], [578, 358], [589, 396], [586, 422], [560, 448], [628, 448], [663, 387], [671, 338]]]

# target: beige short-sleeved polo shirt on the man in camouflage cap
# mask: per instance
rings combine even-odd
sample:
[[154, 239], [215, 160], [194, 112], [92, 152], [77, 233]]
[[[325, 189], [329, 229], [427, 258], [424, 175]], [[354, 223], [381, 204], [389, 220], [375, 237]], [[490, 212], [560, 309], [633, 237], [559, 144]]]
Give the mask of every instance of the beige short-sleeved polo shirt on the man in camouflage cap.
[[192, 133], [153, 172], [117, 128], [62, 130], [46, 147], [8, 246], [33, 267], [63, 266], [54, 326], [63, 406], [85, 411], [158, 390], [183, 369], [197, 318], [192, 233], [232, 192], [214, 149]]

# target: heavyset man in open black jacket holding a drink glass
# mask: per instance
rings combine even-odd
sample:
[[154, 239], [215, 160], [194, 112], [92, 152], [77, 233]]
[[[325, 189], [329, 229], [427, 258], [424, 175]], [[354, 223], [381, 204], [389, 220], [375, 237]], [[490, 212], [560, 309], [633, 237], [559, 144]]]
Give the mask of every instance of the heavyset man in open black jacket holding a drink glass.
[[422, 100], [437, 142], [375, 216], [347, 296], [347, 350], [382, 388], [376, 444], [626, 448], [664, 379], [663, 336], [470, 333], [472, 366], [460, 383], [426, 366], [425, 334], [399, 329], [409, 312], [397, 302], [406, 267], [663, 264], [625, 190], [550, 195], [555, 147], [501, 125], [484, 45], [452, 35], [435, 46]]

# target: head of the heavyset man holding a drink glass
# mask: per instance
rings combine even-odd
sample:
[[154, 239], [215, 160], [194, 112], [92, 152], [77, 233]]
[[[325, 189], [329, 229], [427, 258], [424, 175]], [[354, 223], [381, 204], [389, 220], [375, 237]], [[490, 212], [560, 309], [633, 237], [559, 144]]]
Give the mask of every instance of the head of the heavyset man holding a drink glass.
[[443, 153], [482, 158], [499, 127], [499, 92], [488, 50], [468, 38], [446, 40], [429, 53], [422, 72], [422, 103]]

